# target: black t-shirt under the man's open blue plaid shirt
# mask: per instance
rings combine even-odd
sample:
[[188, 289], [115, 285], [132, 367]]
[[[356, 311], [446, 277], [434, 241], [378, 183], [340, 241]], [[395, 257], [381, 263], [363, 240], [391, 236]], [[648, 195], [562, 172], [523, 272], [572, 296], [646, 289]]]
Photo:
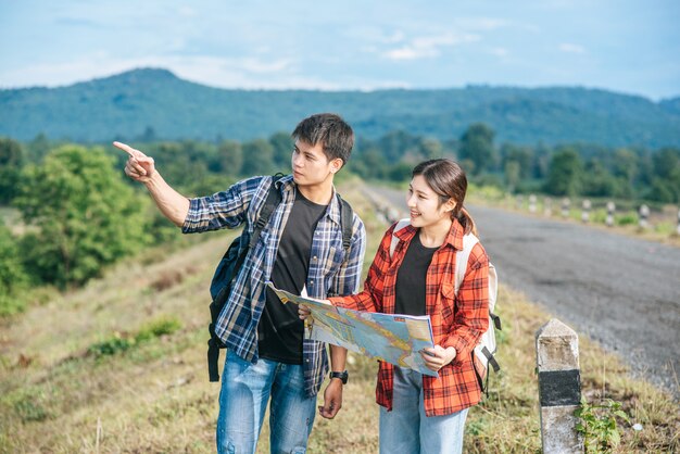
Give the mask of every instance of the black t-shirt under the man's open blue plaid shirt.
[[[312, 237], [327, 205], [306, 200], [297, 191], [292, 211], [279, 241], [272, 269], [272, 282], [293, 294], [300, 294], [306, 280], [312, 252]], [[267, 288], [267, 301], [257, 325], [260, 357], [287, 364], [302, 364], [304, 323], [298, 316], [298, 306], [284, 304]]]

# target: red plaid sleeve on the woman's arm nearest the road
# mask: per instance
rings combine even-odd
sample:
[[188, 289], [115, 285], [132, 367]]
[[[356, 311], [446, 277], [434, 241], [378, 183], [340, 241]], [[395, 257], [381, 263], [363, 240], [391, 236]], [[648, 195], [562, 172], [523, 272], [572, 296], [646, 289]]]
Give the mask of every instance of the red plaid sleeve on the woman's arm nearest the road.
[[456, 349], [453, 365], [469, 358], [477, 341], [489, 328], [489, 257], [481, 244], [473, 249], [456, 297], [453, 330], [443, 346]]

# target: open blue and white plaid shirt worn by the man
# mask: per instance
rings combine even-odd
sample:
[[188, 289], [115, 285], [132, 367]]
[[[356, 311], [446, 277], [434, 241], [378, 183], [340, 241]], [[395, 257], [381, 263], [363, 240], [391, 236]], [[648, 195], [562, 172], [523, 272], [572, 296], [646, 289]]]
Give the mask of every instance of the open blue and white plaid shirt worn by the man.
[[[244, 224], [240, 245], [247, 248], [260, 210], [267, 198], [272, 178], [270, 176], [248, 178], [226, 191], [191, 199], [181, 231], [194, 234], [236, 228]], [[227, 349], [253, 363], [257, 361], [257, 323], [266, 301], [264, 282], [270, 278], [278, 242], [295, 200], [297, 188], [292, 176], [281, 178], [277, 187], [281, 191], [281, 203], [272, 213], [256, 245], [248, 253], [215, 326], [215, 333]], [[349, 256], [345, 256], [342, 248], [340, 204], [333, 197], [314, 231], [305, 282], [307, 294], [312, 298], [326, 299], [356, 293], [365, 247], [366, 230], [354, 213], [352, 242]], [[302, 357], [305, 392], [307, 395], [314, 395], [320, 389], [328, 371], [326, 345], [305, 339]]]

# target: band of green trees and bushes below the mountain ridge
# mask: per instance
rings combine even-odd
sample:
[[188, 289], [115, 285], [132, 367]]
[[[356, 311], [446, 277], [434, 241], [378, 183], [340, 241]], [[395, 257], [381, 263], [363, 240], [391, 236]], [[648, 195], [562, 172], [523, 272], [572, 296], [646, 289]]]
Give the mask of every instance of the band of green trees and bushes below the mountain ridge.
[[[206, 142], [163, 141], [147, 131], [134, 146], [182, 193], [202, 196], [243, 176], [288, 173], [293, 142], [286, 133]], [[473, 182], [513, 193], [680, 202], [679, 149], [496, 144], [486, 124], [443, 141], [401, 130], [360, 137], [340, 177], [402, 182], [417, 162], [440, 156], [457, 160]], [[29, 287], [83, 285], [106, 265], [178, 237], [125, 178], [125, 160], [108, 143], [0, 138], [0, 207], [21, 216], [0, 218], [0, 314], [20, 311]]]

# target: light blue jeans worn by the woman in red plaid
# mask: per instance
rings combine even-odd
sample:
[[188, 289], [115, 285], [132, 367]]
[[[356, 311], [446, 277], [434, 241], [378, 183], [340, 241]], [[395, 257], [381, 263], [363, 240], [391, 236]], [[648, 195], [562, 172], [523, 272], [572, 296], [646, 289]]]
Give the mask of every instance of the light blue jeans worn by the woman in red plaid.
[[395, 366], [392, 411], [380, 407], [380, 453], [462, 453], [467, 411], [425, 416], [423, 376]]

